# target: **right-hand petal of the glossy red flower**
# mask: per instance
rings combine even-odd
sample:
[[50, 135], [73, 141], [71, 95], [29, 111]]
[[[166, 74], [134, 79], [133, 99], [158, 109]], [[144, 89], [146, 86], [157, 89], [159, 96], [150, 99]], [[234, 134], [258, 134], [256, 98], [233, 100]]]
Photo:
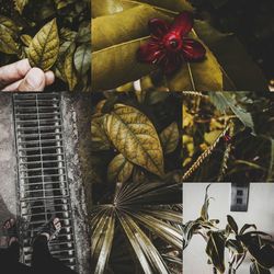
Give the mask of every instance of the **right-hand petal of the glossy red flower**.
[[206, 49], [199, 42], [191, 38], [183, 41], [183, 56], [186, 60], [201, 60], [205, 54]]

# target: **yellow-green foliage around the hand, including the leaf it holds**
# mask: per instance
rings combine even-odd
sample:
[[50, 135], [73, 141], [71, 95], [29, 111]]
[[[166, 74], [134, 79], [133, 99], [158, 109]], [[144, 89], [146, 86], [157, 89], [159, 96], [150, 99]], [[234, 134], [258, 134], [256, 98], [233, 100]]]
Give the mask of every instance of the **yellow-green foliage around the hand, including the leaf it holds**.
[[55, 72], [50, 90], [89, 90], [90, 18], [90, 0], [1, 0], [0, 66], [28, 58]]

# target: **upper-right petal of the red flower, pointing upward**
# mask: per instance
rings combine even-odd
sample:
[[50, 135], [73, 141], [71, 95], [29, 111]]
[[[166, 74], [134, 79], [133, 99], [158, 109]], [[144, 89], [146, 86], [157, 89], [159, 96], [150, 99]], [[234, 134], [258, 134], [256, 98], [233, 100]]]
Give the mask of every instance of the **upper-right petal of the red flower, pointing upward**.
[[176, 32], [181, 37], [185, 36], [193, 27], [194, 19], [192, 13], [182, 12], [176, 18], [174, 23], [171, 25], [170, 31]]

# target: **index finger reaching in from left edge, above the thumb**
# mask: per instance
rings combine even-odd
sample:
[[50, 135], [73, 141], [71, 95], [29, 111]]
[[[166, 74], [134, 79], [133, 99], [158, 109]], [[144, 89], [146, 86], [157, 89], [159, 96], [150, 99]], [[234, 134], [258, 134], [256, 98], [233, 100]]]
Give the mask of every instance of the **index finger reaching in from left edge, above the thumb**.
[[31, 65], [27, 59], [0, 67], [0, 89], [24, 78], [30, 70]]

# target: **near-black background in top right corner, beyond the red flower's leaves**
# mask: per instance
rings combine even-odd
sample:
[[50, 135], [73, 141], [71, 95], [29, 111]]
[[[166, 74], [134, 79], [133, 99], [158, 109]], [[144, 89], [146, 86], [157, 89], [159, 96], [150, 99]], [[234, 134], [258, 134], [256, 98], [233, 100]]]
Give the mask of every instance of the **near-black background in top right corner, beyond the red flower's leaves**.
[[190, 0], [201, 19], [235, 33], [267, 78], [274, 78], [274, 2], [272, 0]]

